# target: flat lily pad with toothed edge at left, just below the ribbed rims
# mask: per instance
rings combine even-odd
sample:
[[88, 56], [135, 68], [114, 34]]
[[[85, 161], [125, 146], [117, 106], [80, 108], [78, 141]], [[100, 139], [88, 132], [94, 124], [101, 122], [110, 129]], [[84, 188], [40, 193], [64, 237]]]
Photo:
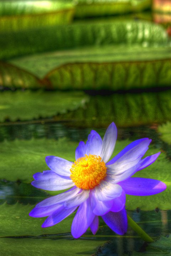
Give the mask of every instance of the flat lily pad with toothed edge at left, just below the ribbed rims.
[[0, 92], [0, 122], [38, 119], [64, 114], [83, 107], [88, 96], [81, 91], [4, 91]]

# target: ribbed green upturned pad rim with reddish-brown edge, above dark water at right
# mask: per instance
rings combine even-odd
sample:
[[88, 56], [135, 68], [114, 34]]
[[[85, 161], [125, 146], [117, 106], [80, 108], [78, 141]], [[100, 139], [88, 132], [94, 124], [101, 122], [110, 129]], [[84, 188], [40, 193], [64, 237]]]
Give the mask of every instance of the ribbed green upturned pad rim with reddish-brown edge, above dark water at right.
[[[112, 56], [112, 53], [111, 53]], [[46, 77], [57, 89], [128, 90], [169, 86], [171, 59], [64, 64]]]

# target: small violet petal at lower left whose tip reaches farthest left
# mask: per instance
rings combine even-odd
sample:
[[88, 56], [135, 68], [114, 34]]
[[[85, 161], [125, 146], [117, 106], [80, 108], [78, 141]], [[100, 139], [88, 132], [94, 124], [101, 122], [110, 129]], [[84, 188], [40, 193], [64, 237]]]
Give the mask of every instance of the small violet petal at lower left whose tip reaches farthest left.
[[34, 218], [47, 217], [52, 214], [55, 210], [62, 207], [62, 204], [54, 204], [53, 206], [33, 208], [29, 215]]

